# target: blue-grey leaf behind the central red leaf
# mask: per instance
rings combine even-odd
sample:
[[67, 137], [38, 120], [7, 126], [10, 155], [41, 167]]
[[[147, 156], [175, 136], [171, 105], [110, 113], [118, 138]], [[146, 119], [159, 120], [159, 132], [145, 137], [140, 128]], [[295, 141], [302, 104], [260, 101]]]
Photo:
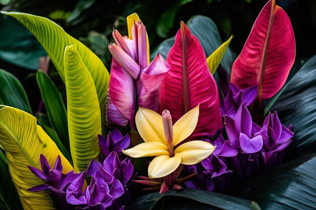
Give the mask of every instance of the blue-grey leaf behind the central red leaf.
[[[187, 26], [191, 30], [192, 34], [196, 36], [196, 38], [199, 40], [206, 57], [212, 54], [223, 43], [216, 24], [208, 17], [200, 15], [193, 16], [192, 18], [190, 18], [190, 20], [188, 20]], [[167, 54], [174, 43], [175, 36], [165, 40], [151, 53], [150, 58], [153, 59], [159, 52], [166, 59]], [[234, 59], [235, 55], [228, 47], [222, 59], [221, 65], [229, 73], [232, 68]]]

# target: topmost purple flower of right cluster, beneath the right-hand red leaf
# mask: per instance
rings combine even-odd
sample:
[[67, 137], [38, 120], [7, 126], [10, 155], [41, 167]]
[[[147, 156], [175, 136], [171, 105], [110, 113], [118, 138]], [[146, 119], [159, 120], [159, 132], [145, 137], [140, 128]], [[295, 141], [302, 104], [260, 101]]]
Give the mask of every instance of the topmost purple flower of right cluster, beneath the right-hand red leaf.
[[238, 89], [234, 84], [230, 84], [230, 89], [224, 101], [221, 101], [222, 116], [229, 116], [235, 119], [237, 110], [244, 104], [248, 107], [257, 97], [257, 86], [247, 88], [245, 90]]

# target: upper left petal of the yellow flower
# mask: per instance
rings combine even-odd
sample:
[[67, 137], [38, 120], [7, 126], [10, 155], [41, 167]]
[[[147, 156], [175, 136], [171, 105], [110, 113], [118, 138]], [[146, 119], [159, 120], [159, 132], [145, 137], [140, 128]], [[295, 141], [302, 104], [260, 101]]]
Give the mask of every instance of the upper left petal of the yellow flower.
[[160, 142], [167, 146], [162, 115], [139, 107], [135, 121], [139, 135], [144, 142]]

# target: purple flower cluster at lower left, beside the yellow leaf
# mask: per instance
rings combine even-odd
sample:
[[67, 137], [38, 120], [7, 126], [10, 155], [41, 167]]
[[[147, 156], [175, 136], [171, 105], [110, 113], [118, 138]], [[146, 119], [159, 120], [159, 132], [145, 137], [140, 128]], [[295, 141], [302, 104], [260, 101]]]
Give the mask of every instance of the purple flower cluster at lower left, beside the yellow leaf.
[[[103, 150], [101, 149], [104, 156], [108, 154], [108, 148], [113, 151], [107, 155], [103, 164], [92, 160], [87, 171], [81, 173], [71, 171], [63, 174], [60, 156], [55, 167], [51, 169], [46, 158], [40, 155], [42, 171], [28, 167], [37, 177], [45, 181], [45, 184], [28, 190], [49, 190], [57, 209], [123, 210], [124, 205], [130, 201], [128, 186], [134, 177], [134, 167], [128, 158], [120, 160], [116, 151], [121, 152], [122, 149], [126, 149], [125, 142], [129, 145], [129, 141], [129, 137], [123, 137], [118, 130], [110, 132], [107, 141], [102, 142], [101, 139], [99, 144], [104, 146]], [[91, 182], [87, 187], [85, 187], [85, 175], [91, 176]]]

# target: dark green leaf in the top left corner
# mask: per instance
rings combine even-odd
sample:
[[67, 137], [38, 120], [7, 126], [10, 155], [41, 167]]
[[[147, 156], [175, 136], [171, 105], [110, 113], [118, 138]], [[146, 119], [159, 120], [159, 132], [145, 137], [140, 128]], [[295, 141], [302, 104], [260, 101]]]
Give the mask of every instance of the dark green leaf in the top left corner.
[[0, 59], [37, 70], [39, 57], [46, 52], [31, 32], [12, 17], [0, 15]]

